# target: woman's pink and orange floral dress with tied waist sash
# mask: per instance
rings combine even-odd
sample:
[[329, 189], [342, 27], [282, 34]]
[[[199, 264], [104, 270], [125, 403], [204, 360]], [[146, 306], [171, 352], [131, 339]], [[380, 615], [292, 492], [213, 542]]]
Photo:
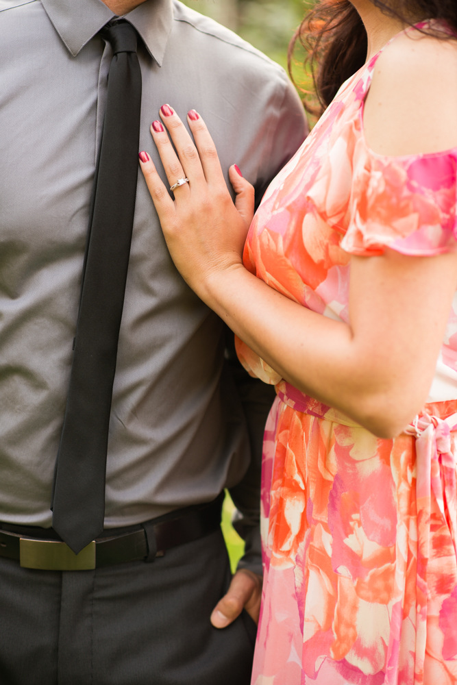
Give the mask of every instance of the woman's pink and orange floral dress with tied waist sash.
[[[386, 157], [367, 147], [377, 58], [271, 184], [245, 245], [249, 271], [338, 321], [348, 321], [351, 255], [457, 249], [457, 149]], [[428, 404], [395, 440], [306, 397], [240, 340], [237, 349], [277, 390], [253, 685], [457, 683], [457, 298]]]

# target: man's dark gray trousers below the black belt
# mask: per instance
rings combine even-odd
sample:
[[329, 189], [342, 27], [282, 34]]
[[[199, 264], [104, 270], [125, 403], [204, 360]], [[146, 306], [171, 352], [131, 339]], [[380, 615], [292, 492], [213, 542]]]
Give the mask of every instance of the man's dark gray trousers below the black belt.
[[219, 531], [95, 571], [0, 558], [0, 684], [249, 685], [254, 621], [210, 624], [229, 583]]

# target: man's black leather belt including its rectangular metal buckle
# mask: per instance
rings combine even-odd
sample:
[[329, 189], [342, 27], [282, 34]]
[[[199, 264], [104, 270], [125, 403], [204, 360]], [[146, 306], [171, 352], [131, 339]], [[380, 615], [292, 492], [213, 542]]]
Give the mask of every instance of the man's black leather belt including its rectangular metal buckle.
[[[88, 571], [123, 562], [152, 562], [167, 549], [190, 543], [216, 531], [221, 523], [224, 493], [209, 504], [188, 507], [92, 540], [75, 554], [52, 530], [1, 524], [0, 556], [26, 569]], [[115, 534], [114, 534], [115, 533]], [[54, 539], [52, 539], [54, 538]]]

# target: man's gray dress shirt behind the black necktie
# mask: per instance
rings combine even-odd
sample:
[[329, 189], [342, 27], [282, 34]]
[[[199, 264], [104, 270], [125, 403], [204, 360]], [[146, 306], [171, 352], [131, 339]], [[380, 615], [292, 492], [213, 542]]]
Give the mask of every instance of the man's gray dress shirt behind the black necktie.
[[[114, 14], [100, 0], [0, 0], [0, 521], [51, 525]], [[171, 0], [126, 15], [143, 39], [140, 150], [160, 105], [204, 117], [225, 173], [261, 192], [306, 135], [284, 71]], [[139, 172], [139, 170], [138, 170]], [[249, 463], [223, 327], [184, 283], [138, 173], [105, 526], [214, 499]], [[255, 508], [256, 504], [252, 506]]]

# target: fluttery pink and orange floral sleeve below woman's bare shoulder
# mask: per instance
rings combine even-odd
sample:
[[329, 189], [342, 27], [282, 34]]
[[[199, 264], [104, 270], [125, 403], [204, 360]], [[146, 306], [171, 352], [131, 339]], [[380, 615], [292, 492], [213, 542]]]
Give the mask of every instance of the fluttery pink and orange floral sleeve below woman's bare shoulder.
[[456, 158], [457, 151], [384, 157], [360, 140], [341, 247], [361, 256], [386, 247], [412, 256], [455, 251]]

